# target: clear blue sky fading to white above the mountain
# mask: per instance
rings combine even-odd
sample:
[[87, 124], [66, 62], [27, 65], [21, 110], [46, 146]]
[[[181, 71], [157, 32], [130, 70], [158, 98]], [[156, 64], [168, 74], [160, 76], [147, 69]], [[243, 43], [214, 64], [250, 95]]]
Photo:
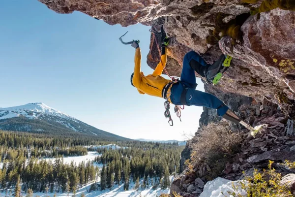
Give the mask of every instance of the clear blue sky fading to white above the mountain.
[[[98, 129], [129, 138], [178, 139], [194, 133], [202, 107], [185, 107], [182, 123], [164, 117], [164, 99], [140, 95], [130, 84], [140, 39], [147, 65], [149, 27], [110, 26], [80, 12], [57, 14], [37, 0], [0, 3], [0, 107], [43, 102]], [[164, 75], [166, 77], [166, 75]], [[204, 85], [198, 78], [198, 90]]]

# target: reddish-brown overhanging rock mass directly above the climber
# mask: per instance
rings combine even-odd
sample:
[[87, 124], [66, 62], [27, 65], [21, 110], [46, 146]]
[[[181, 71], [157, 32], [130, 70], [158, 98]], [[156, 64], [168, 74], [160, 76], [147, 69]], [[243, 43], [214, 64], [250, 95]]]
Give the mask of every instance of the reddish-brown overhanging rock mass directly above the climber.
[[[251, 5], [241, 0], [39, 0], [58, 13], [81, 11], [110, 25], [142, 23], [164, 29], [171, 37], [167, 63], [171, 75], [180, 75], [182, 59], [194, 50], [213, 63], [224, 53], [232, 66], [216, 86], [225, 93], [267, 99], [293, 116], [295, 96], [295, 12], [279, 8], [250, 16]], [[252, 6], [258, 7], [261, 0]], [[222, 14], [222, 17], [220, 17]], [[249, 17], [250, 16], [250, 17]], [[241, 25], [243, 37], [233, 46], [225, 36], [218, 45], [206, 37], [218, 23]], [[159, 39], [158, 37], [156, 39]], [[148, 65], [158, 63], [151, 36]]]

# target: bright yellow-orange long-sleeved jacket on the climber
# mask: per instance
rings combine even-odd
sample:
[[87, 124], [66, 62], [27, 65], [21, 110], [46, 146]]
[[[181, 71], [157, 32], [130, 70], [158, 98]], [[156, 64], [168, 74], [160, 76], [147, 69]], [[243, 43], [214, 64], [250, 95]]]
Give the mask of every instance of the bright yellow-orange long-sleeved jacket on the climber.
[[[132, 79], [133, 85], [137, 88], [140, 94], [147, 94], [150, 96], [161, 97], [162, 98], [162, 90], [164, 86], [171, 82], [171, 80], [165, 79], [160, 75], [163, 72], [164, 66], [166, 66], [167, 61], [167, 49], [165, 49], [165, 54], [161, 56], [160, 63], [157, 65], [152, 74], [147, 76], [144, 75], [142, 71], [140, 71], [141, 66], [141, 52], [138, 47], [135, 50], [135, 58], [134, 58], [134, 75]], [[162, 65], [163, 63], [163, 65]]]

